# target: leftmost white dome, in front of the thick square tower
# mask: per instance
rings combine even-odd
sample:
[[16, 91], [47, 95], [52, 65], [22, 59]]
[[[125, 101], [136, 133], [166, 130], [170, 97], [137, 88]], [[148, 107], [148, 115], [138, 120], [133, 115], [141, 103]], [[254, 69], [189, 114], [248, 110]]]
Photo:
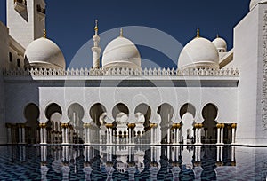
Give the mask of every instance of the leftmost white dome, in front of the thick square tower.
[[28, 47], [24, 54], [25, 67], [65, 69], [66, 62], [61, 49], [53, 41], [41, 37]]

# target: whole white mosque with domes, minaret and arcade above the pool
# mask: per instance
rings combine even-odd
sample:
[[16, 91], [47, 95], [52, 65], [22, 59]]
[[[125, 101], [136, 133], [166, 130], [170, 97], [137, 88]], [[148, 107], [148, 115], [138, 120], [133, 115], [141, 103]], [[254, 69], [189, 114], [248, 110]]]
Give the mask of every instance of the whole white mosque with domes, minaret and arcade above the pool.
[[69, 69], [46, 37], [45, 1], [7, 0], [0, 144], [266, 146], [266, 2], [251, 0], [230, 51], [223, 38], [210, 41], [198, 29], [177, 69], [141, 67], [122, 30], [101, 47], [96, 22], [93, 67]]

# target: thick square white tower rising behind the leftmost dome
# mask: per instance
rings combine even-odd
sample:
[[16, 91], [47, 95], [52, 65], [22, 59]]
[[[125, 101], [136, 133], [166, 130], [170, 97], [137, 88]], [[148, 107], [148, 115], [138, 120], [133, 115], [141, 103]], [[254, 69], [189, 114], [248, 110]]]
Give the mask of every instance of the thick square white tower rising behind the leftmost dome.
[[24, 48], [44, 35], [45, 0], [6, 0], [10, 35]]

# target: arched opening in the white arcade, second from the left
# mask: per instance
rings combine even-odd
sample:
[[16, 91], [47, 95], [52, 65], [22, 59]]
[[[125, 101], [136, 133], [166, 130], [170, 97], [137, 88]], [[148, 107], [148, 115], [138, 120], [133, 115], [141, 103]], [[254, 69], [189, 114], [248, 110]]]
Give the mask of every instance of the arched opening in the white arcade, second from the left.
[[[61, 106], [59, 106], [56, 103], [52, 103], [49, 106], [46, 106], [45, 109], [45, 116], [48, 120], [46, 122], [46, 130], [47, 130], [47, 143], [53, 143], [55, 138], [54, 135], [54, 128], [55, 126], [53, 125], [54, 122], [61, 122], [61, 115], [62, 115], [62, 109]], [[61, 129], [60, 129], [61, 130]], [[62, 133], [60, 133], [62, 134]], [[58, 136], [61, 137], [61, 136]]]

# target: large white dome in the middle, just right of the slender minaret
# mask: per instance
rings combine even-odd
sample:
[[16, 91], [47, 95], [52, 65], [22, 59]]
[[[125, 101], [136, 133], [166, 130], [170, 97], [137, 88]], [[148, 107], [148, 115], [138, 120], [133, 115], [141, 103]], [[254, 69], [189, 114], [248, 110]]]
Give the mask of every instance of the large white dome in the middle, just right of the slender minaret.
[[112, 40], [103, 52], [102, 67], [140, 69], [140, 53], [133, 42], [119, 36]]

